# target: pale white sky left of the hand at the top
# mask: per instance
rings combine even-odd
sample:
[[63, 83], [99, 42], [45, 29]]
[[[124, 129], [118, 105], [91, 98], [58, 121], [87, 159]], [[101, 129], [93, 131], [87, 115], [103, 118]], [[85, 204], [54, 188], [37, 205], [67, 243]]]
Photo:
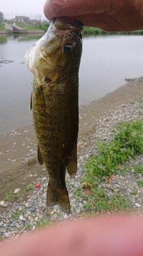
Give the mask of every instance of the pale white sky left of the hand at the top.
[[[42, 15], [46, 0], [0, 0], [0, 11], [5, 19], [14, 18], [15, 15]], [[12, 17], [13, 16], [13, 17]]]

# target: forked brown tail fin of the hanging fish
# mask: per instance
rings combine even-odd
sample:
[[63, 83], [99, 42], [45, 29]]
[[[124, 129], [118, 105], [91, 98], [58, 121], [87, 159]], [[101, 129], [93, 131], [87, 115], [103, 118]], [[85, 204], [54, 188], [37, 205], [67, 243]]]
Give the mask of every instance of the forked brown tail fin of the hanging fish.
[[69, 214], [70, 200], [69, 200], [66, 184], [64, 189], [57, 189], [55, 186], [51, 185], [50, 179], [49, 179], [46, 203], [48, 204], [48, 206], [54, 206], [55, 204], [58, 204], [61, 210]]

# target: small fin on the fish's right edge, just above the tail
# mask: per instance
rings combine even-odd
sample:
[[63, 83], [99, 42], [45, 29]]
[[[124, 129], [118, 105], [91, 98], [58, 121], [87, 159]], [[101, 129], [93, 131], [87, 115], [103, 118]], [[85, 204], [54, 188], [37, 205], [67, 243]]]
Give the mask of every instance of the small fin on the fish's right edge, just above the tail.
[[71, 177], [76, 176], [77, 173], [77, 144], [74, 144], [71, 156], [69, 156], [69, 162], [67, 164], [67, 171]]

